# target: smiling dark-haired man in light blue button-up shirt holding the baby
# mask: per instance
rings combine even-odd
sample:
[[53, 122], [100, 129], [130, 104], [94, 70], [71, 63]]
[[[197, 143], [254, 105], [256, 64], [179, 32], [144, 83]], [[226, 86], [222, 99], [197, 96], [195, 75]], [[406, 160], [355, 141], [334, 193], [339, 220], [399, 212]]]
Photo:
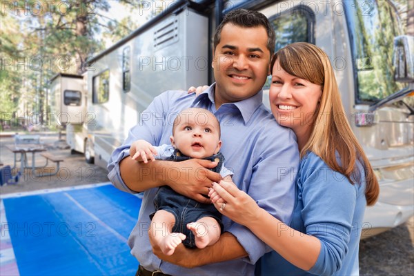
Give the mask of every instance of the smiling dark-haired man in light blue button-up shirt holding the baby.
[[213, 112], [221, 124], [221, 152], [226, 166], [234, 172], [235, 184], [270, 214], [290, 221], [299, 163], [295, 135], [279, 126], [262, 104], [261, 89], [274, 48], [275, 33], [263, 14], [229, 12], [214, 38], [216, 83], [197, 97], [178, 91], [156, 97], [146, 110], [147, 119], [141, 119], [124, 145], [112, 153], [108, 165], [112, 183], [129, 193], [144, 191], [139, 219], [128, 239], [131, 253], [140, 263], [137, 275], [154, 271], [166, 275], [253, 275], [257, 259], [270, 250], [253, 233], [226, 217], [222, 221], [224, 233], [213, 246], [188, 249], [180, 245], [172, 256], [151, 247], [148, 230], [152, 235], [157, 229], [150, 228], [149, 214], [154, 212], [153, 199], [159, 186], [168, 185], [177, 193], [208, 203], [204, 195], [208, 195], [213, 181], [219, 181], [218, 174], [206, 169], [216, 166], [214, 162], [190, 159], [139, 164], [128, 157], [130, 144], [137, 139], [152, 145], [167, 144], [170, 117], [185, 108]]

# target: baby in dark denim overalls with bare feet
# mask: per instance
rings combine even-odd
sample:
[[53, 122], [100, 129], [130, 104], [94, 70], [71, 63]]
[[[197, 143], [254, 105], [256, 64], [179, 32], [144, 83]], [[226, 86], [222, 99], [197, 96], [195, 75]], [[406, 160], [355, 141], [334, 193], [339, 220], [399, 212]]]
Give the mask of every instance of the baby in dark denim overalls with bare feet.
[[[219, 172], [225, 181], [231, 181], [233, 173], [224, 167], [224, 157], [219, 152], [220, 124], [213, 113], [203, 108], [181, 111], [175, 118], [170, 140], [171, 145], [159, 147], [137, 140], [131, 144], [130, 156], [144, 163], [155, 159], [208, 159], [218, 163], [210, 170]], [[221, 214], [213, 204], [201, 204], [169, 186], [161, 186], [154, 205], [156, 212], [150, 215], [152, 228], [156, 230], [155, 242], [164, 254], [172, 255], [181, 242], [189, 248], [204, 248], [219, 239]]]

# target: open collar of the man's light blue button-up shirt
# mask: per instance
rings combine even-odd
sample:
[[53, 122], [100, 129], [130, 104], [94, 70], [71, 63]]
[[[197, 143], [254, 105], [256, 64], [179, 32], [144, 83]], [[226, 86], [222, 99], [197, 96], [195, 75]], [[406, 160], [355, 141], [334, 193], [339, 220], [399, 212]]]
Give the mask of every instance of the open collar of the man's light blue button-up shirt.
[[[196, 106], [199, 101], [205, 101], [206, 99], [209, 99], [211, 103], [215, 105], [214, 92], [215, 92], [215, 83], [213, 83], [209, 88], [201, 92], [194, 99], [193, 106]], [[240, 114], [242, 115], [244, 119], [244, 124], [247, 124], [247, 122], [250, 120], [255, 110], [259, 106], [262, 105], [262, 102], [263, 102], [263, 90], [260, 90], [259, 92], [257, 92], [257, 94], [253, 95], [252, 97], [248, 99], [237, 101], [235, 103], [224, 103], [224, 105], [235, 106], [239, 110]]]

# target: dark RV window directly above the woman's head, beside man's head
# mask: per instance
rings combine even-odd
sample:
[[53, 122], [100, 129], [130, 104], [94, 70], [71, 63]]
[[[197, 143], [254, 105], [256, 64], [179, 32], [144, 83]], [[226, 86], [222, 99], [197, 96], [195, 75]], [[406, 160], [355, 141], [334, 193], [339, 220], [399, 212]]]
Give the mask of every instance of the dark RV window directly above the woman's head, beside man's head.
[[[270, 17], [276, 34], [275, 52], [294, 42], [315, 43], [313, 26], [315, 14], [306, 6], [297, 6], [286, 12]], [[268, 77], [263, 89], [270, 88], [271, 76]]]

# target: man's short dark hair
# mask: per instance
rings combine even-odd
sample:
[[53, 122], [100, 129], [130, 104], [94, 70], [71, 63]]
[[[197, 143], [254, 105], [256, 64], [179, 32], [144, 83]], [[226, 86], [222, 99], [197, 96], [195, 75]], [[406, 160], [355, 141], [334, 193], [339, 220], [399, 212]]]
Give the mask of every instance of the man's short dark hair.
[[273, 30], [273, 27], [268, 21], [267, 17], [261, 12], [256, 12], [255, 10], [237, 9], [228, 12], [228, 14], [224, 16], [223, 21], [221, 21], [220, 25], [215, 31], [214, 50], [220, 43], [221, 30], [227, 23], [232, 23], [233, 25], [242, 28], [255, 28], [263, 26], [266, 29], [268, 35], [267, 48], [270, 51], [270, 57], [273, 56], [273, 53], [275, 52], [276, 41], [275, 30]]

